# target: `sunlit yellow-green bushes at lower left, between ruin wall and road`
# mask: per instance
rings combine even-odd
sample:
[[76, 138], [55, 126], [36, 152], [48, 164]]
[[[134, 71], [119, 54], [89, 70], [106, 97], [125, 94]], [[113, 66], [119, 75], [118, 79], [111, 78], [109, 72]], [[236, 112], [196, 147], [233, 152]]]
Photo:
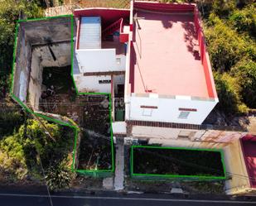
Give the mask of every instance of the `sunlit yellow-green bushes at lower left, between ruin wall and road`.
[[14, 130], [12, 135], [0, 140], [0, 175], [10, 180], [43, 180], [43, 170], [46, 170], [49, 186], [56, 181], [56, 188], [52, 189], [60, 189], [58, 185], [64, 184], [58, 179], [60, 175], [65, 174], [66, 185], [70, 180], [67, 171], [72, 161], [74, 134], [69, 127], [41, 122], [56, 141], [49, 137], [40, 122], [28, 118], [17, 132]]

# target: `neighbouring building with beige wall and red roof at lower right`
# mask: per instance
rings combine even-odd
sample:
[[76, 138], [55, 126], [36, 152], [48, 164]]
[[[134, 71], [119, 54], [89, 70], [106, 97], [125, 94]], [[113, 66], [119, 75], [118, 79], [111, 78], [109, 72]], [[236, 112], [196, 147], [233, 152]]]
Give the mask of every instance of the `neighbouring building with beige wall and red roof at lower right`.
[[231, 178], [226, 180], [227, 194], [256, 195], [256, 136], [245, 136], [234, 141], [225, 150], [227, 170]]

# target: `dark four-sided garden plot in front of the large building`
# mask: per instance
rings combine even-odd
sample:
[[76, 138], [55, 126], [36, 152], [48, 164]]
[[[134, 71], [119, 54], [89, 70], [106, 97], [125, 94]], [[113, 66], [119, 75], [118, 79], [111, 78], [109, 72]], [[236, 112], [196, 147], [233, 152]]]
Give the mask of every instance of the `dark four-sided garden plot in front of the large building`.
[[132, 175], [225, 179], [220, 151], [157, 146], [132, 147]]

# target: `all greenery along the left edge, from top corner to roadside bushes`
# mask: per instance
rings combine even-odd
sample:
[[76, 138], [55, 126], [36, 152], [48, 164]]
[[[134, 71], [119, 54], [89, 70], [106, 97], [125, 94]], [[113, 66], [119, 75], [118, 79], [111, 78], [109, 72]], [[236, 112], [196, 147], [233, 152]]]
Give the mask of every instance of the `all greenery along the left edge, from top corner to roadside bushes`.
[[[45, 6], [41, 0], [0, 0], [0, 181], [40, 182], [44, 169], [50, 188], [60, 189], [71, 180], [65, 171], [70, 170], [73, 131], [41, 120], [56, 139], [51, 140], [41, 124], [28, 117], [8, 93], [16, 22], [21, 17], [43, 17]], [[65, 175], [61, 180], [57, 172], [60, 165]]]

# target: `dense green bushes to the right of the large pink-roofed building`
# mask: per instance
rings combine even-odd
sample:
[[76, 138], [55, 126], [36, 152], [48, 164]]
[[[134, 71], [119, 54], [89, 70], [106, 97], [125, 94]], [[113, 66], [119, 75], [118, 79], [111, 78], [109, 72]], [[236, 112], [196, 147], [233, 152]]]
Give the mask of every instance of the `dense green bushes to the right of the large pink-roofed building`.
[[219, 108], [227, 114], [246, 113], [256, 108], [256, 4], [218, 0], [200, 8]]

